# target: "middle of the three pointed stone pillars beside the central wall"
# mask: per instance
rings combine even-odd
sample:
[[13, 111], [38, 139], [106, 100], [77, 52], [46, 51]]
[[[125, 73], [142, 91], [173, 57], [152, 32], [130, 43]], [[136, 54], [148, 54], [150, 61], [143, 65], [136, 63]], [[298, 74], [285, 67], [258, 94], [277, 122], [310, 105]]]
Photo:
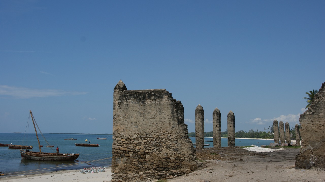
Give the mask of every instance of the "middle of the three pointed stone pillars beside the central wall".
[[221, 113], [215, 108], [212, 114], [213, 148], [221, 148]]

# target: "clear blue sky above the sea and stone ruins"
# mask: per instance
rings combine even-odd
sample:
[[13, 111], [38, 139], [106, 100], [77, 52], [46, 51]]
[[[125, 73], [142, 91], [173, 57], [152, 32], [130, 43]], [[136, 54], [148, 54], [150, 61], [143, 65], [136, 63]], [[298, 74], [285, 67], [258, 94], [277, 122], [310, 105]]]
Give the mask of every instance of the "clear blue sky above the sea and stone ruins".
[[[112, 133], [113, 89], [166, 89], [235, 115], [299, 123], [325, 81], [325, 1], [0, 1], [0, 132]], [[33, 132], [33, 130], [29, 130]]]

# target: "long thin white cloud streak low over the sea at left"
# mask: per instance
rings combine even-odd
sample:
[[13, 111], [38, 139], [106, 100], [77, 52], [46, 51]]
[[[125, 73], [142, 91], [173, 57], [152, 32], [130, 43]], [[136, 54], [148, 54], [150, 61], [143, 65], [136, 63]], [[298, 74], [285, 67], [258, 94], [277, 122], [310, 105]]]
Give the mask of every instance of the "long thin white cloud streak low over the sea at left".
[[25, 87], [11, 87], [0, 85], [0, 95], [11, 96], [18, 99], [29, 99], [32, 97], [49, 97], [49, 96], [66, 96], [66, 95], [83, 95], [87, 92], [62, 91], [50, 89], [30, 89]]

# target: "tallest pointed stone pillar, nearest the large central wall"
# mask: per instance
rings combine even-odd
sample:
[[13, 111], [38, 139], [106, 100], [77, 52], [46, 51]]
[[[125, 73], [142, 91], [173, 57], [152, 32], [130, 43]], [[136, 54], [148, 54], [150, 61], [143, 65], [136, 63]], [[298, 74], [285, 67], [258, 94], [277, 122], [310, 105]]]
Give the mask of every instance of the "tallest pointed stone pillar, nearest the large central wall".
[[198, 149], [204, 147], [204, 110], [200, 104], [195, 109], [195, 145]]

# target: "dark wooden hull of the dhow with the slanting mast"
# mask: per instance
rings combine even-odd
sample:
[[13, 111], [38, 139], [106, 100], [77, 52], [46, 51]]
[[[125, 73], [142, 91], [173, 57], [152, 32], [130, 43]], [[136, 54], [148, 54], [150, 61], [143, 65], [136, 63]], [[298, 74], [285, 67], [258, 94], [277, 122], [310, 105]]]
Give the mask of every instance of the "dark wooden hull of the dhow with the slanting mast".
[[20, 150], [21, 158], [33, 161], [75, 161], [79, 157], [77, 154], [69, 153], [46, 153], [46, 152], [26, 152]]

